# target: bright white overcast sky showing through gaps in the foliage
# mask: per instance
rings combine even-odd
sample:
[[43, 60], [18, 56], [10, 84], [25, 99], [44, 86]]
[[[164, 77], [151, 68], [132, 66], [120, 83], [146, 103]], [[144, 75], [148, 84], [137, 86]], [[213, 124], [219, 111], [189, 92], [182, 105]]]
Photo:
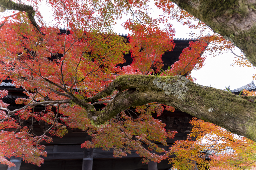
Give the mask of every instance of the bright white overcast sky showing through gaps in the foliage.
[[[51, 9], [44, 5], [39, 8], [44, 20], [48, 21], [47, 25], [52, 25], [54, 23], [51, 16]], [[155, 16], [161, 15], [161, 11], [154, 8], [152, 11]], [[10, 11], [5, 12], [5, 15], [10, 15]], [[114, 27], [114, 31], [120, 34], [128, 34], [129, 32], [125, 30], [121, 24], [126, 21], [128, 16], [123, 16], [121, 21], [117, 21], [117, 24]], [[193, 38], [189, 37], [188, 33], [191, 31], [196, 32], [195, 30], [188, 29], [186, 26], [183, 26], [176, 21], [172, 21], [173, 27], [175, 28], [176, 34], [175, 38]], [[65, 25], [60, 25], [59, 27], [63, 28]], [[207, 34], [207, 33], [206, 33]], [[237, 48], [235, 53], [240, 55], [240, 50]], [[253, 74], [256, 74], [256, 69], [247, 68], [247, 67], [239, 67], [239, 66], [231, 66], [235, 56], [231, 53], [223, 53], [217, 57], [211, 57], [210, 55], [206, 57], [205, 66], [198, 70], [192, 71], [192, 77], [196, 77], [196, 83], [225, 89], [225, 86], [228, 87], [230, 85], [230, 89], [236, 89], [243, 85], [246, 85], [252, 81]]]

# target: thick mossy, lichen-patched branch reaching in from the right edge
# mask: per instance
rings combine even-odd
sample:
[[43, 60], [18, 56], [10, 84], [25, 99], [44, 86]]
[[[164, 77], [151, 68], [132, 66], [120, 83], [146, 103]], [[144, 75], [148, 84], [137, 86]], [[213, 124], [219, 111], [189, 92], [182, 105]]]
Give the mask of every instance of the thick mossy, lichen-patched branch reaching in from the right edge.
[[100, 112], [91, 106], [87, 108], [88, 117], [96, 124], [104, 123], [131, 106], [159, 102], [256, 141], [255, 96], [241, 97], [201, 86], [184, 76], [122, 75], [95, 98], [108, 96], [114, 89], [125, 91]]

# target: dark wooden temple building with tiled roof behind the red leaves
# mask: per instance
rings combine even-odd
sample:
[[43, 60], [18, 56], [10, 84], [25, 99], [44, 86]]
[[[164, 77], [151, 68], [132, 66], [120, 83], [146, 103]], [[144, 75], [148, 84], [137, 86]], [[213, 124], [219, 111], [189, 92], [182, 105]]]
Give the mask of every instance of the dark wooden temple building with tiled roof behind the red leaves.
[[[120, 35], [125, 38], [127, 36]], [[164, 68], [167, 69], [168, 66], [174, 64], [178, 60], [179, 55], [182, 50], [189, 46], [189, 41], [194, 41], [195, 39], [179, 39], [174, 38], [174, 43], [176, 46], [173, 51], [166, 52], [162, 56], [164, 63]], [[124, 56], [126, 63], [122, 66], [127, 66], [131, 64], [132, 58], [131, 54]], [[250, 87], [250, 86], [248, 86]], [[256, 88], [253, 84], [253, 87]], [[17, 98], [28, 98], [24, 93], [23, 88], [15, 88], [11, 81], [4, 81], [0, 84], [0, 90], [8, 90], [8, 96], [2, 98], [2, 100], [10, 104], [7, 108], [10, 110], [15, 110], [17, 108], [23, 107], [23, 105], [15, 104]], [[95, 108], [102, 108], [101, 105], [94, 105]], [[43, 106], [36, 106], [35, 111], [40, 112], [43, 110]], [[163, 147], [166, 151], [173, 145], [176, 140], [186, 140], [187, 135], [190, 133], [192, 126], [189, 121], [193, 116], [175, 110], [174, 112], [164, 111], [159, 117], [153, 115], [155, 119], [160, 119], [162, 122], [166, 123], [166, 130], [176, 130], [178, 133], [175, 135], [174, 139], [167, 139], [167, 146], [162, 146], [161, 143], [156, 143], [157, 145]], [[18, 117], [16, 117], [18, 120]], [[42, 135], [49, 125], [43, 121], [32, 120], [22, 120], [20, 123], [22, 126], [27, 126], [31, 129], [31, 124], [33, 121], [34, 133], [38, 136]], [[5, 129], [6, 131], [12, 131], [15, 129]], [[48, 134], [50, 136], [50, 134]], [[103, 151], [101, 148], [94, 149], [83, 149], [81, 144], [90, 140], [91, 136], [86, 134], [86, 132], [80, 129], [68, 129], [68, 134], [64, 137], [59, 138], [52, 136], [53, 142], [44, 143], [42, 145], [46, 146], [47, 157], [43, 157], [44, 164], [40, 167], [26, 163], [18, 158], [10, 158], [11, 162], [16, 164], [16, 167], [9, 167], [0, 164], [1, 170], [169, 170], [172, 165], [168, 163], [168, 160], [163, 160], [160, 163], [150, 162], [149, 164], [142, 163], [142, 158], [140, 155], [136, 154], [136, 151], [132, 151], [132, 154], [127, 154], [123, 158], [114, 158], [113, 151]], [[175, 155], [174, 155], [175, 156]]]

